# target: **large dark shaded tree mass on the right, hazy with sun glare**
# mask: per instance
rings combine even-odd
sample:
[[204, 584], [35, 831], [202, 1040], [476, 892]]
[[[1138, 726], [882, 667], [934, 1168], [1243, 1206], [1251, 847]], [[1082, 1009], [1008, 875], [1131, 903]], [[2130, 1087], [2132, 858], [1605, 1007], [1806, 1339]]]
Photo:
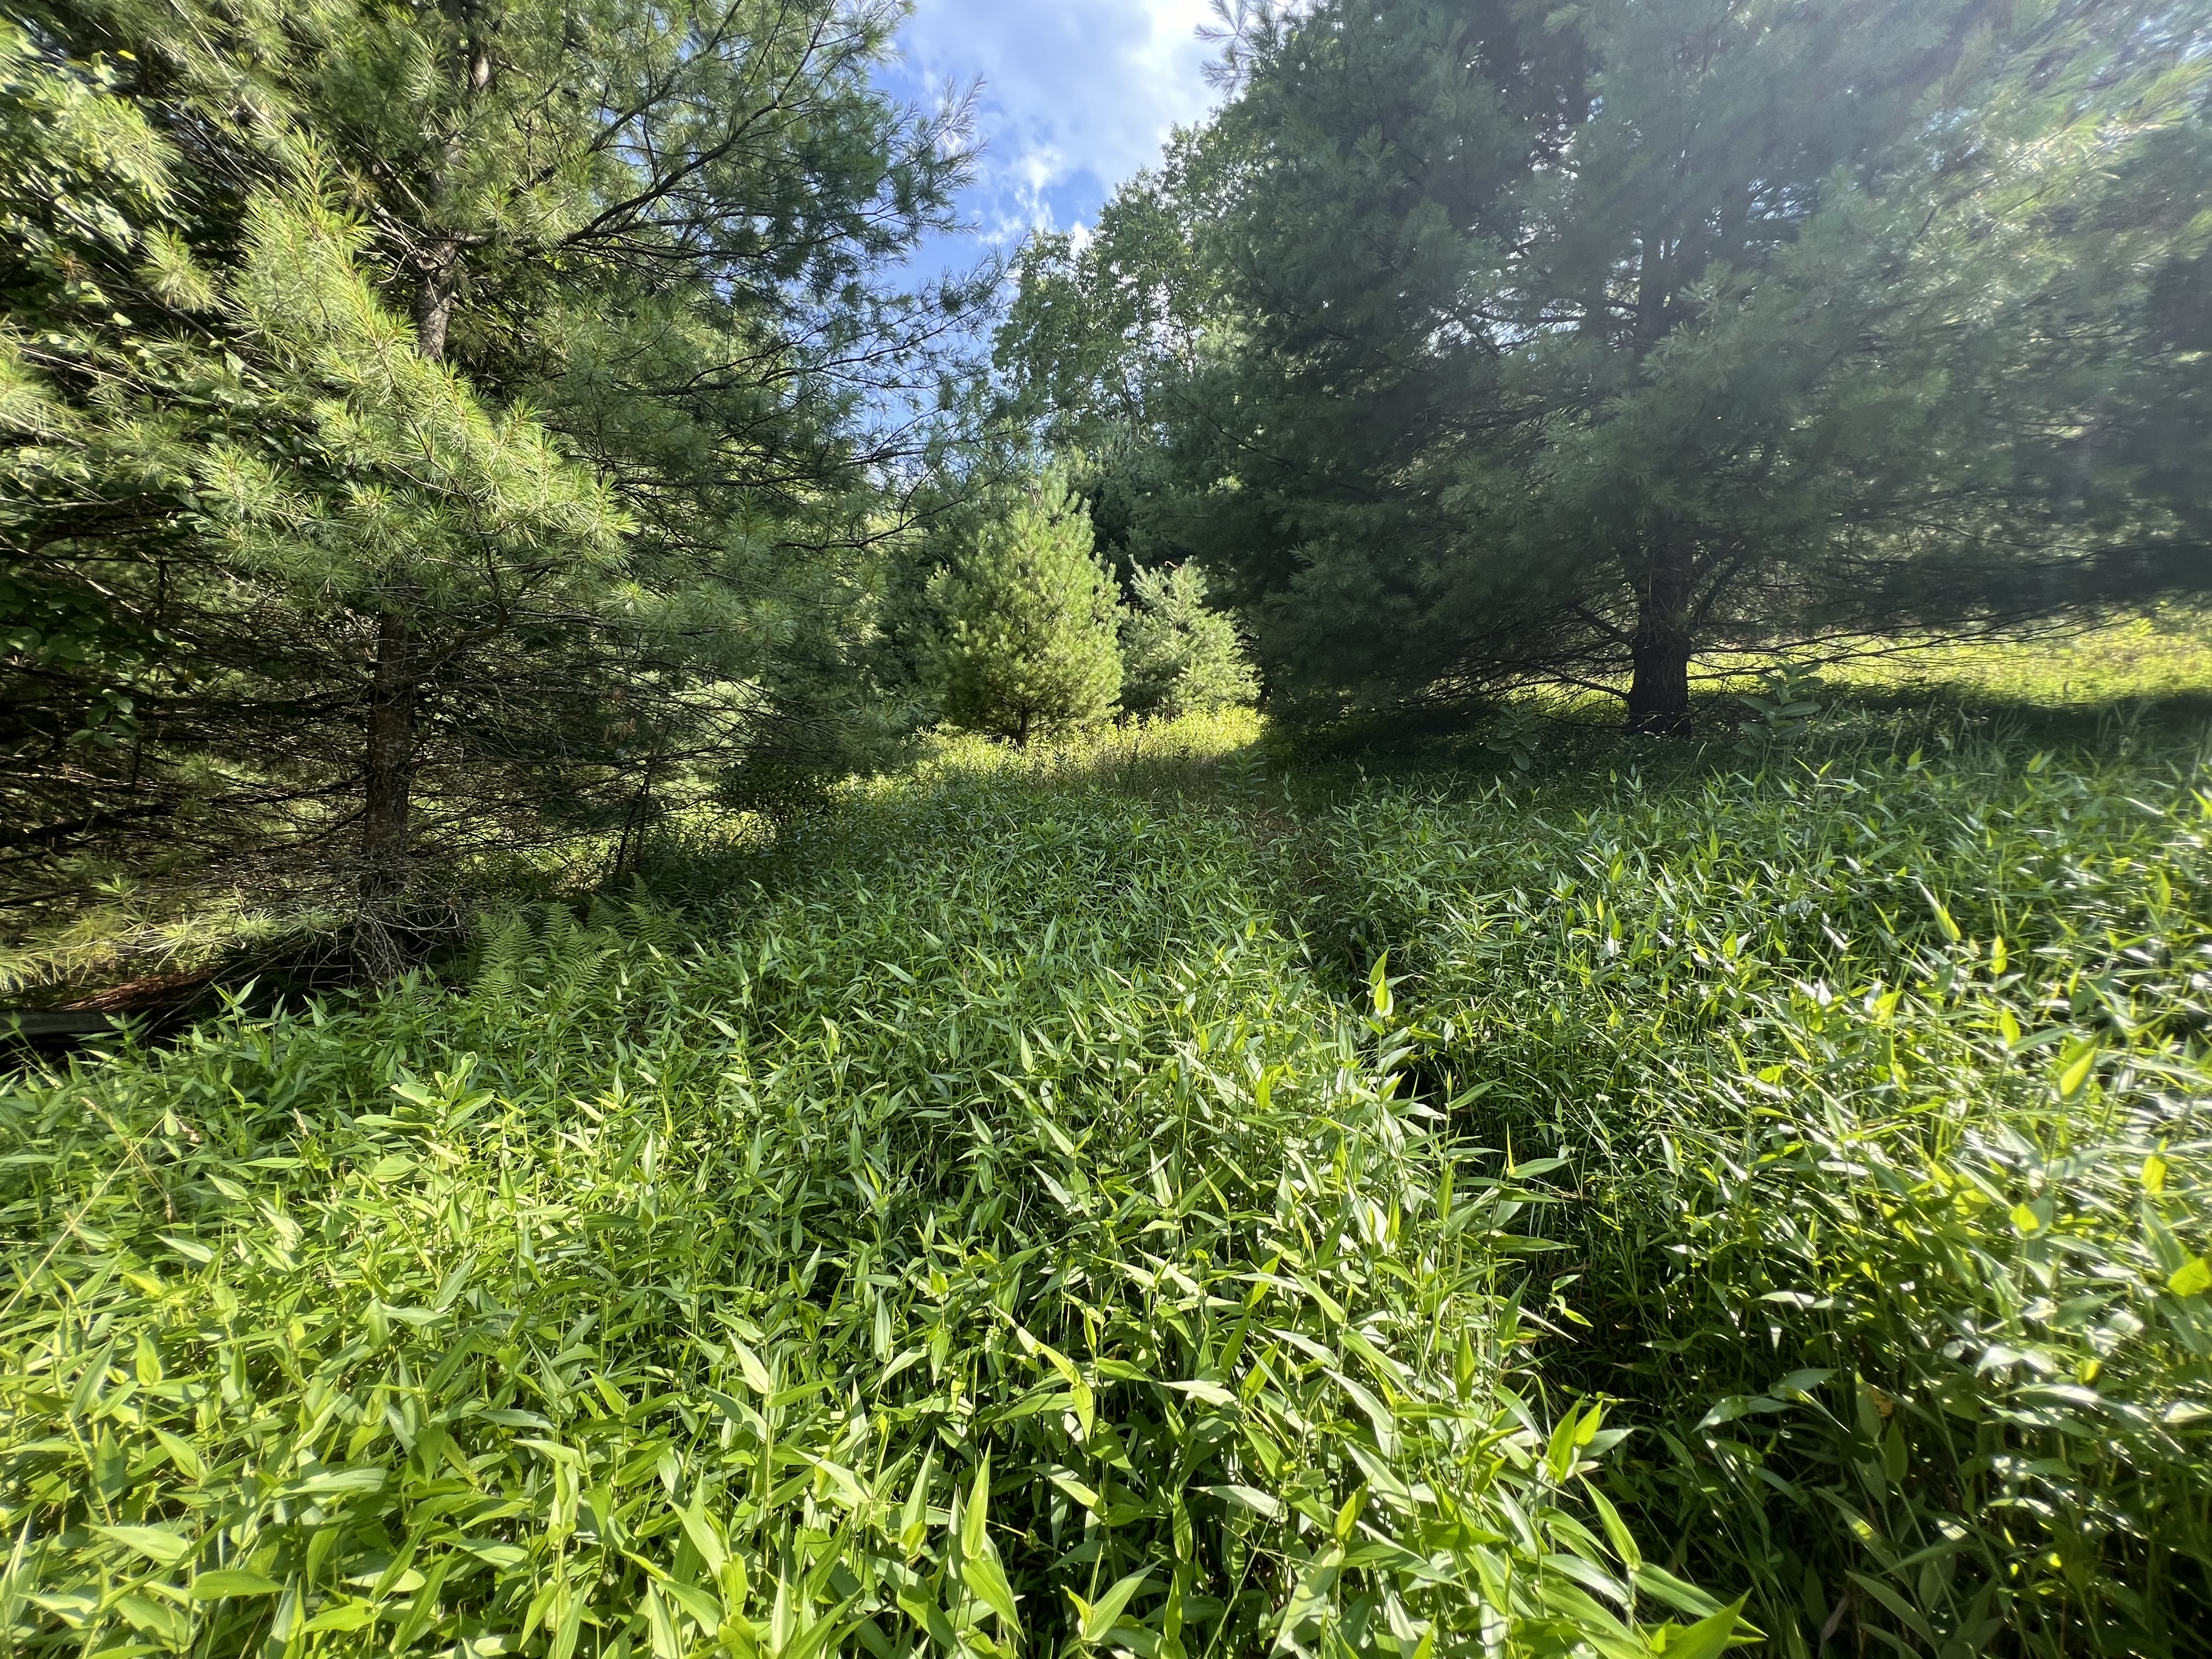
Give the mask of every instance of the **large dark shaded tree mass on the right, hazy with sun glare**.
[[2208, 582], [2203, 7], [1237, 11], [1000, 363], [1290, 703], [1679, 732], [1697, 657]]

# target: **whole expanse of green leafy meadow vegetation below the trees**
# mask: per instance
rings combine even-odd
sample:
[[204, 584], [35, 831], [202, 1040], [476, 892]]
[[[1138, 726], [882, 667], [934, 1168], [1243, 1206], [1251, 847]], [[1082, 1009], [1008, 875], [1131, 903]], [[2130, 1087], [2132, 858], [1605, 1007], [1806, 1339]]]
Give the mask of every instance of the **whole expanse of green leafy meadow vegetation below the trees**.
[[24, 1066], [11, 1639], [2203, 1650], [2205, 730], [2064, 679], [951, 739]]

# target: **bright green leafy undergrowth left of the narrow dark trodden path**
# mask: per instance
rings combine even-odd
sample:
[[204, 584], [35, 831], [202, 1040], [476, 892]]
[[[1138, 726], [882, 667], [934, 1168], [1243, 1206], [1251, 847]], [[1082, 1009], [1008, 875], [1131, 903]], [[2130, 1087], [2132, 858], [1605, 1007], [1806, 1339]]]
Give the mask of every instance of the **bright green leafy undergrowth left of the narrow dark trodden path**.
[[801, 841], [0, 1097], [18, 1648], [1725, 1646], [1524, 1365], [1540, 1170], [1234, 816], [947, 772]]

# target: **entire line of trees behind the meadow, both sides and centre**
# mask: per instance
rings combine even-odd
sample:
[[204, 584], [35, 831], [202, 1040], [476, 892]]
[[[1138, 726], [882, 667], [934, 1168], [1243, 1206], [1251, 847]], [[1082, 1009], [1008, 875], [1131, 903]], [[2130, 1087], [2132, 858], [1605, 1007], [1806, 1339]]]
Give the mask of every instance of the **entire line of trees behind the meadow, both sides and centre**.
[[938, 719], [1666, 734], [1730, 653], [2212, 586], [2205, 0], [1237, 7], [1095, 234], [920, 285], [900, 15], [9, 9], [18, 916], [221, 878], [383, 975], [478, 854]]

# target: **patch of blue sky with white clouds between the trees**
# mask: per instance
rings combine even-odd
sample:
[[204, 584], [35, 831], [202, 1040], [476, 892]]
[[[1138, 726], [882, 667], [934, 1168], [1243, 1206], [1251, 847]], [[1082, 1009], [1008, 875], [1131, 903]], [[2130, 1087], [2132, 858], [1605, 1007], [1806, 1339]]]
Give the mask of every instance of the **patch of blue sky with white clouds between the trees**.
[[1026, 230], [1088, 223], [1106, 195], [1206, 113], [1206, 0], [916, 0], [887, 88], [933, 102], [982, 77], [984, 155], [962, 199], [982, 241], [929, 248], [927, 268], [967, 265]]

